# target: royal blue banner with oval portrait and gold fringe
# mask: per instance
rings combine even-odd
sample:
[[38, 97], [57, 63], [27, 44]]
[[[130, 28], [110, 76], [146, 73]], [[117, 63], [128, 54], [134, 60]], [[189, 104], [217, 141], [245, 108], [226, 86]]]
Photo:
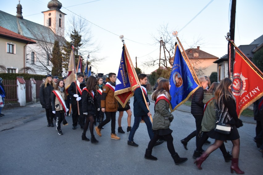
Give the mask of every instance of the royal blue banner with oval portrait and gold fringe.
[[171, 111], [182, 105], [200, 87], [196, 81], [198, 78], [193, 74], [194, 70], [188, 64], [176, 43], [173, 68], [169, 78]]

